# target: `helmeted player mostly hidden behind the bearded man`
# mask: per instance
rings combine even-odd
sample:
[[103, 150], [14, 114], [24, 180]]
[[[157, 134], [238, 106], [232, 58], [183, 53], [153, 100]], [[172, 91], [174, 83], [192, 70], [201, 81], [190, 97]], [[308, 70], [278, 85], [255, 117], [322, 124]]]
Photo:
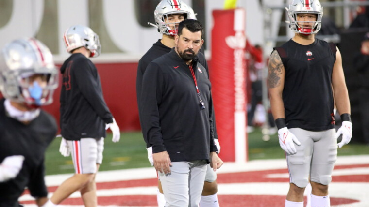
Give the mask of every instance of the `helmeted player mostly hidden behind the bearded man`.
[[[195, 14], [191, 7], [186, 5], [181, 0], [163, 0], [161, 1], [154, 12], [154, 18], [158, 31], [163, 34], [162, 39], [159, 39], [152, 47], [146, 52], [146, 54], [139, 60], [137, 68], [137, 78], [136, 78], [136, 92], [137, 92], [137, 103], [140, 108], [141, 103], [141, 88], [142, 88], [142, 77], [145, 73], [148, 64], [160, 56], [170, 52], [171, 48], [175, 46], [174, 36], [177, 34], [178, 23], [187, 19], [195, 18]], [[198, 53], [199, 62], [203, 65], [208, 72], [207, 62], [204, 55]], [[141, 119], [141, 110], [139, 109], [139, 117]], [[213, 113], [214, 117], [214, 113]], [[215, 127], [215, 117], [214, 119], [214, 138], [215, 143], [218, 148], [218, 153], [220, 152], [220, 145], [218, 142], [218, 135]], [[141, 121], [142, 122], [142, 121]], [[141, 123], [142, 124], [142, 123]], [[142, 128], [142, 127], [141, 127]], [[147, 141], [147, 137], [144, 134], [144, 139], [147, 144], [148, 157], [151, 165], [152, 162], [152, 148]], [[218, 185], [217, 185], [217, 174], [212, 170], [210, 165], [208, 165], [206, 171], [206, 177], [204, 182], [204, 187], [202, 191], [202, 196], [200, 200], [201, 207], [219, 207], [218, 202]], [[157, 192], [157, 202], [159, 207], [165, 206], [165, 198], [163, 195], [163, 190], [161, 187], [160, 180], [158, 181], [158, 192]]]

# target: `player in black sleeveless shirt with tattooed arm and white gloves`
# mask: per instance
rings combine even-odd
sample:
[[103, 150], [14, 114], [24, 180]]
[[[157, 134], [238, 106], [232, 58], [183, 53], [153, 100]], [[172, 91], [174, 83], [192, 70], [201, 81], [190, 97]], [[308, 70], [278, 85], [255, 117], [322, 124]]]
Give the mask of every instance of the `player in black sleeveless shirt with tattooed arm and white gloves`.
[[[342, 134], [341, 148], [352, 137], [342, 58], [334, 44], [315, 38], [323, 15], [318, 0], [293, 0], [287, 11], [295, 36], [275, 48], [268, 66], [271, 110], [290, 175], [285, 207], [303, 207], [309, 176], [311, 206], [328, 207], [336, 139]], [[343, 121], [337, 133], [334, 102]]]

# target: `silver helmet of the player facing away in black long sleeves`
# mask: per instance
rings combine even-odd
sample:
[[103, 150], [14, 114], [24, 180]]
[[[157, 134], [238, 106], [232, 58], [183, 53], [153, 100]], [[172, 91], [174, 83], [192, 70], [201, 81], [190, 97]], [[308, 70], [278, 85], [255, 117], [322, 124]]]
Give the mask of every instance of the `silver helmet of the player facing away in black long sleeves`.
[[64, 32], [63, 39], [68, 53], [79, 47], [85, 47], [91, 52], [91, 58], [100, 55], [101, 44], [99, 36], [89, 27], [74, 25]]

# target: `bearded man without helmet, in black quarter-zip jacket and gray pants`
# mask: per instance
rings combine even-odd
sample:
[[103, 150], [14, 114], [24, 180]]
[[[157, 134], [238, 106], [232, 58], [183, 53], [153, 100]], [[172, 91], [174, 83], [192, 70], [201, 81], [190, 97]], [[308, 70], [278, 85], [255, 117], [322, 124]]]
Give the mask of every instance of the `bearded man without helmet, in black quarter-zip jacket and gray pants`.
[[197, 54], [203, 44], [197, 20], [179, 23], [175, 48], [152, 61], [143, 76], [141, 124], [152, 147], [166, 207], [197, 207], [206, 164], [223, 162], [214, 143], [211, 84]]

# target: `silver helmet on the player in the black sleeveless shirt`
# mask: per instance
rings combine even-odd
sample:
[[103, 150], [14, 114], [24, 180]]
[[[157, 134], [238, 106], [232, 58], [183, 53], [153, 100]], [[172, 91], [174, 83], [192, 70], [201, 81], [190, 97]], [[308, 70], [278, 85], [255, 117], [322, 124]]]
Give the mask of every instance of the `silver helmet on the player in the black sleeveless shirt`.
[[[296, 33], [302, 34], [315, 34], [321, 29], [321, 18], [323, 17], [323, 7], [320, 5], [319, 0], [292, 0], [289, 8], [285, 8], [290, 21], [286, 21], [289, 24], [289, 28]], [[298, 14], [316, 14], [316, 21], [297, 21]], [[299, 26], [299, 23], [313, 22], [312, 28], [303, 28]]]

